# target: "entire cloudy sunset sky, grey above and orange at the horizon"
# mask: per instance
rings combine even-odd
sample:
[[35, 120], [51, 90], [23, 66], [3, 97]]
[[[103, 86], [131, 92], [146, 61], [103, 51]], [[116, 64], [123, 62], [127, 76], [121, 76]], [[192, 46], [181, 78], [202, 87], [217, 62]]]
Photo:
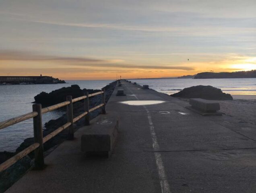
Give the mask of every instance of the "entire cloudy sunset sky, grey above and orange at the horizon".
[[0, 0], [0, 76], [114, 80], [253, 69], [255, 0]]

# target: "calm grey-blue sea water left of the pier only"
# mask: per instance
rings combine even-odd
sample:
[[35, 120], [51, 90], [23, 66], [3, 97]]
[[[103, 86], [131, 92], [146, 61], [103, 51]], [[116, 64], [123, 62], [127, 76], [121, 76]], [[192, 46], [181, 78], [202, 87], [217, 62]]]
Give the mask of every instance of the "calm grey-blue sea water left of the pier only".
[[[111, 80], [66, 81], [66, 84], [0, 85], [0, 121], [32, 111], [34, 96], [42, 91], [51, 92], [58, 88], [78, 84], [80, 88], [101, 89]], [[43, 125], [57, 119], [64, 112], [52, 111], [42, 116]], [[15, 151], [24, 139], [33, 137], [33, 119], [28, 119], [0, 130], [0, 151]]]

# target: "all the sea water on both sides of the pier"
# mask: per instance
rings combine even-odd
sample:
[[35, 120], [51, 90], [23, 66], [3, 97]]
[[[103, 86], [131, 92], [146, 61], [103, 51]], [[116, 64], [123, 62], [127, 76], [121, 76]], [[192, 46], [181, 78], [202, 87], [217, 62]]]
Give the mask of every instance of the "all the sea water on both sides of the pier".
[[[172, 94], [183, 88], [196, 85], [211, 85], [221, 88], [223, 92], [241, 96], [256, 95], [256, 78], [233, 79], [133, 79], [140, 85], [148, 84], [150, 88]], [[32, 111], [34, 96], [42, 91], [51, 92], [58, 88], [78, 84], [80, 88], [101, 89], [111, 80], [66, 81], [66, 84], [29, 84], [0, 85], [0, 121], [17, 117]], [[43, 114], [43, 125], [50, 119], [63, 115], [63, 111], [52, 111]], [[33, 119], [23, 121], [0, 130], [0, 151], [15, 151], [24, 139], [33, 137]]]

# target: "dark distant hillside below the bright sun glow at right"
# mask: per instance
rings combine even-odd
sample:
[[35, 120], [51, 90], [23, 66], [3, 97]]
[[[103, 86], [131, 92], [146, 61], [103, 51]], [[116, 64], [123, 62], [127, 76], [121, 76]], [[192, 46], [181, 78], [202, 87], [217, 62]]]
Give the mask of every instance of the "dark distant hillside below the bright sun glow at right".
[[196, 74], [194, 79], [204, 78], [256, 78], [256, 70], [238, 72], [202, 72]]

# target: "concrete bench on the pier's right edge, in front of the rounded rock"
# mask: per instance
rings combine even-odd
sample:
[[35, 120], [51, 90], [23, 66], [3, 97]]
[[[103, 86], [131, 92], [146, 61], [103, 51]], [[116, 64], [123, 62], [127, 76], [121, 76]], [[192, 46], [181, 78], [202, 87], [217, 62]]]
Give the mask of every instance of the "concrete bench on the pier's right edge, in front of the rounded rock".
[[190, 99], [189, 104], [191, 106], [187, 107], [201, 115], [222, 115], [219, 103], [215, 101], [209, 101], [205, 99]]

